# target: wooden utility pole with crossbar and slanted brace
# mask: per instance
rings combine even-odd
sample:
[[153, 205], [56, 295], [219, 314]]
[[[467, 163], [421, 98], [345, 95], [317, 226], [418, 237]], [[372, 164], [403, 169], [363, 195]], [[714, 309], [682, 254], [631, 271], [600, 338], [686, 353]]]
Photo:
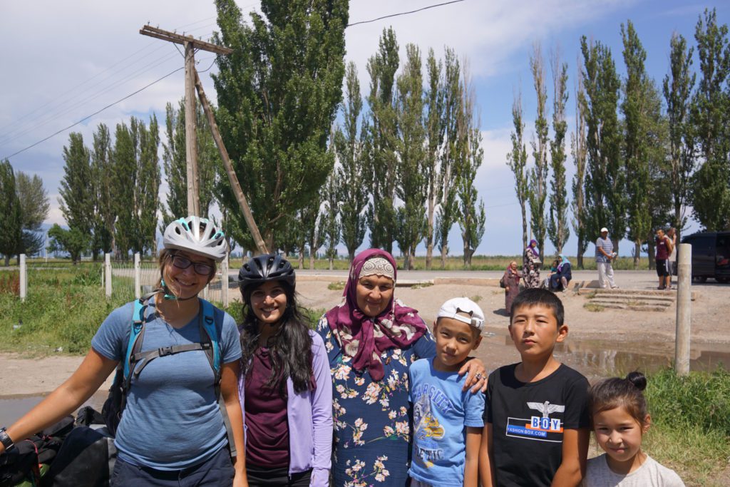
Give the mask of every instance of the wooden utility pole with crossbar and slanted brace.
[[[246, 196], [241, 189], [241, 185], [238, 182], [238, 177], [231, 164], [231, 159], [228, 157], [228, 150], [223, 145], [223, 139], [220, 137], [218, 131], [218, 125], [215, 123], [215, 117], [213, 116], [212, 108], [208, 99], [203, 91], [203, 84], [200, 81], [198, 72], [195, 69], [195, 58], [193, 57], [193, 50], [201, 49], [207, 50], [211, 53], [227, 55], [233, 53], [232, 49], [219, 45], [212, 44], [211, 42], [205, 42], [197, 40], [192, 36], [183, 36], [175, 34], [174, 32], [164, 31], [161, 28], [153, 26], [144, 26], [139, 30], [139, 34], [156, 37], [157, 39], [163, 39], [165, 41], [174, 42], [175, 44], [182, 44], [185, 46], [185, 161], [188, 164], [188, 213], [190, 215], [199, 215], [200, 204], [198, 198], [198, 164], [197, 164], [197, 147], [196, 147], [196, 112], [195, 112], [195, 90], [198, 91], [200, 102], [203, 105], [203, 110], [208, 118], [210, 130], [215, 140], [215, 145], [218, 146], [220, 152], [220, 158], [223, 159], [223, 166], [226, 166], [226, 173], [228, 174], [228, 180], [231, 183], [238, 204], [241, 207], [243, 218], [246, 221], [248, 230], [251, 232], [253, 241], [256, 244], [256, 248], [259, 253], [269, 253], [264, 244], [264, 239], [261, 238], [261, 233], [258, 231], [258, 226], [253, 220], [253, 214], [248, 206]], [[194, 87], [194, 88], [193, 88]]]

